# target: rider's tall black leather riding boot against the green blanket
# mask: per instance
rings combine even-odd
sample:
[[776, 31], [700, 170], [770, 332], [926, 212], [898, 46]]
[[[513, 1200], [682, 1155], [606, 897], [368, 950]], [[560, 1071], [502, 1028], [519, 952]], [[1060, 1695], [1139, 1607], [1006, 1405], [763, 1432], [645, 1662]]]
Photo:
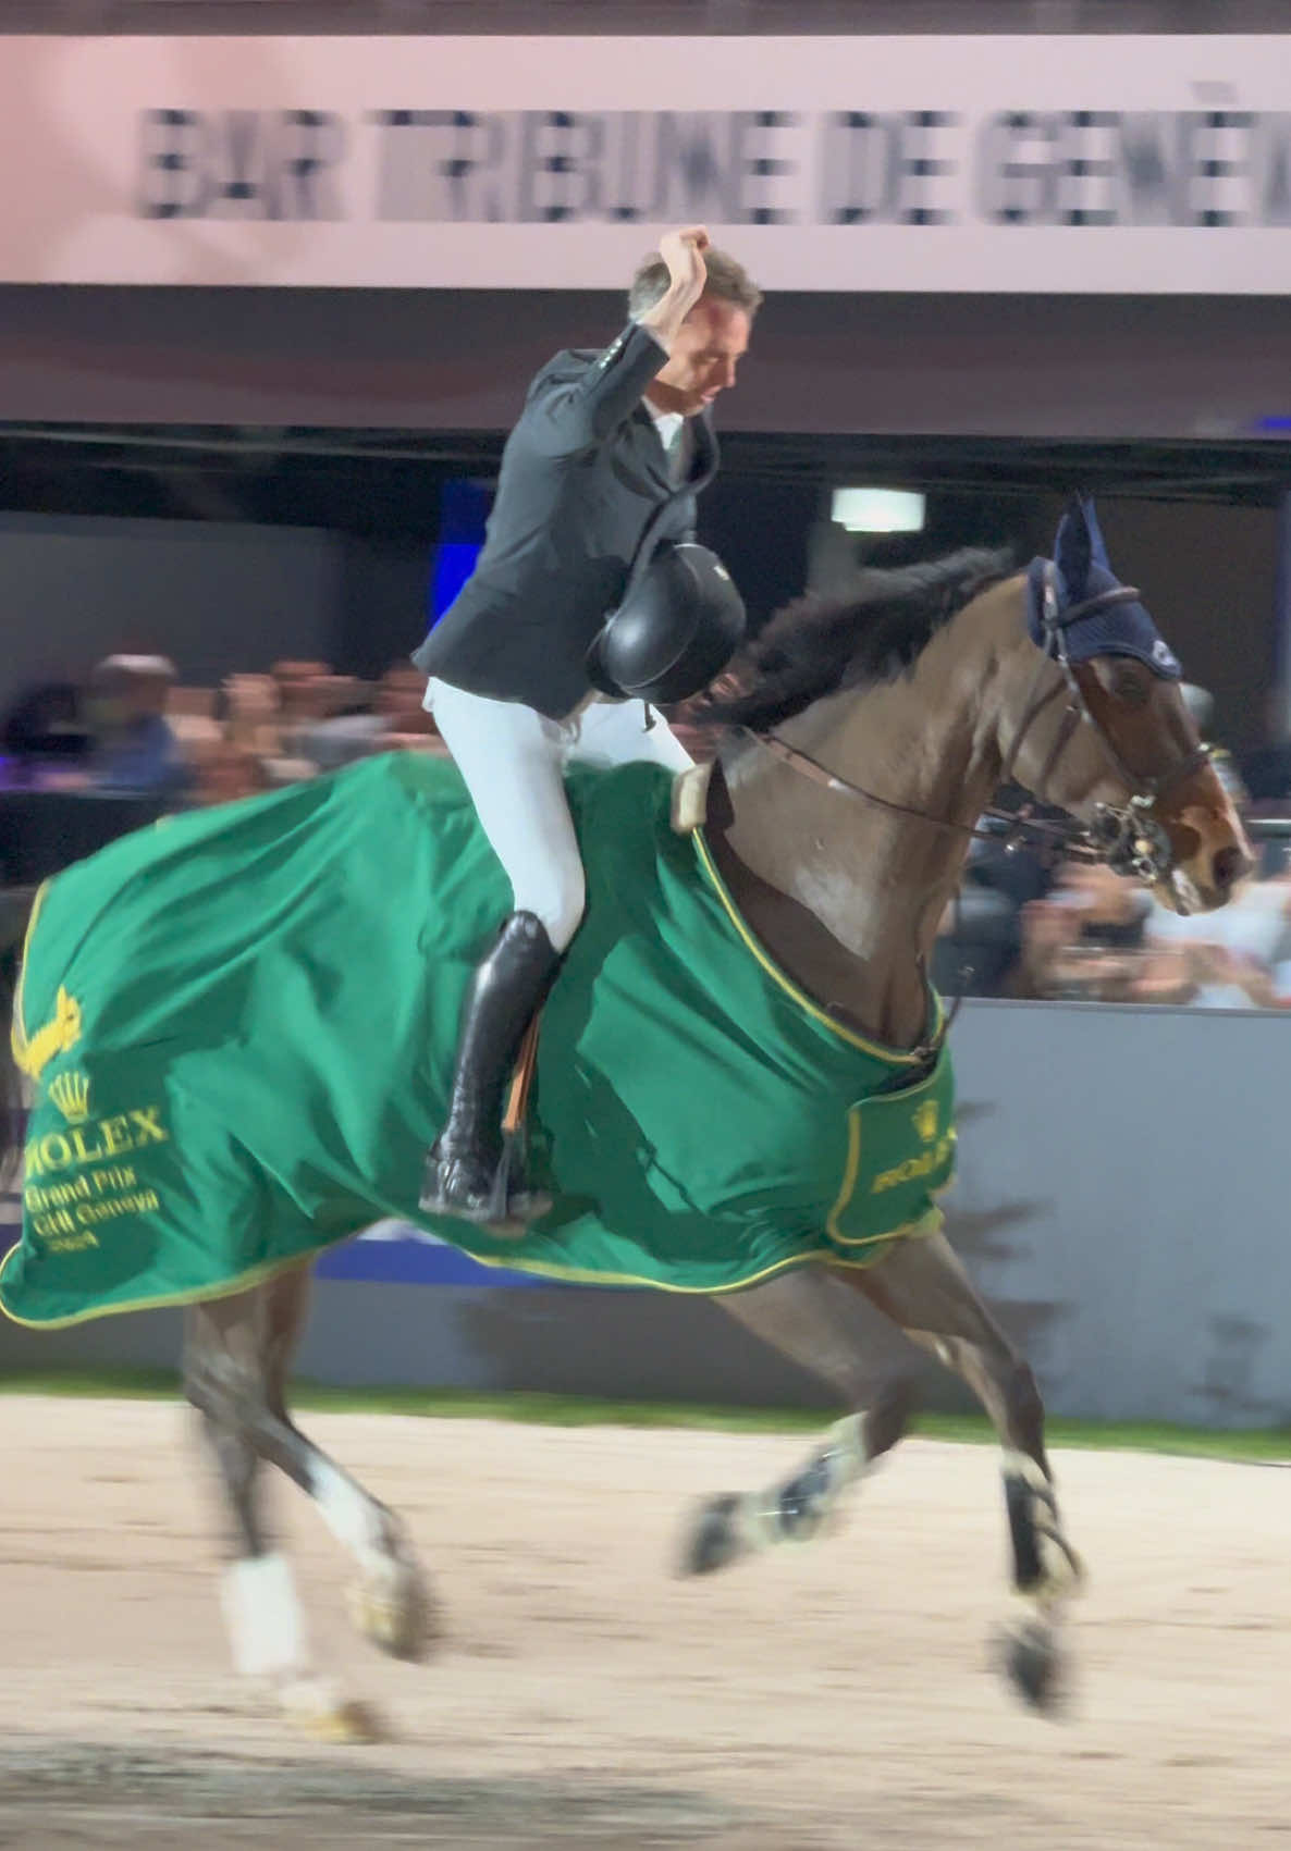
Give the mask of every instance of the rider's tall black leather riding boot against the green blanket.
[[[482, 1224], [506, 1220], [506, 1205], [495, 1199], [502, 1162], [502, 1094], [558, 964], [559, 953], [543, 922], [533, 913], [513, 913], [470, 979], [448, 1124], [426, 1161], [420, 1207], [428, 1214], [456, 1214]], [[515, 1198], [522, 1192], [524, 1179], [511, 1177], [508, 1194]], [[532, 1205], [517, 1207], [533, 1212]]]

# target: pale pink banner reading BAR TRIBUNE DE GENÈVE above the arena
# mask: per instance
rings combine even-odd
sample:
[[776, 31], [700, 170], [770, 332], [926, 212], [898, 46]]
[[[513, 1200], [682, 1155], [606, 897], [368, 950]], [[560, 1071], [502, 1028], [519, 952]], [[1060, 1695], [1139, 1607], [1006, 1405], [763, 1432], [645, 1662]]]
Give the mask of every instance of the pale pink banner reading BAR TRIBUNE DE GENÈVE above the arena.
[[1291, 39], [69, 39], [0, 52], [0, 281], [1291, 292]]

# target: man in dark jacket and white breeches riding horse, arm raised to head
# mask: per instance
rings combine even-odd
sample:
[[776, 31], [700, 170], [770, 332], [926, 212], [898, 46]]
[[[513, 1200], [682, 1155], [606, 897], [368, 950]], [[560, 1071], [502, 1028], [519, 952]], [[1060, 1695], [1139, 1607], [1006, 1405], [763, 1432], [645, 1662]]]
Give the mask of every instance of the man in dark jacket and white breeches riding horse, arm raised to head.
[[[413, 655], [513, 890], [467, 992], [448, 1120], [428, 1157], [428, 1212], [495, 1218], [502, 1092], [583, 914], [563, 766], [691, 763], [641, 700], [598, 698], [606, 677], [589, 646], [643, 542], [693, 533], [695, 494], [717, 470], [709, 405], [735, 379], [759, 304], [704, 226], [659, 241], [632, 281], [626, 329], [602, 354], [558, 354], [530, 385], [476, 570]], [[532, 1198], [519, 1190], [511, 1212], [532, 1214]]]

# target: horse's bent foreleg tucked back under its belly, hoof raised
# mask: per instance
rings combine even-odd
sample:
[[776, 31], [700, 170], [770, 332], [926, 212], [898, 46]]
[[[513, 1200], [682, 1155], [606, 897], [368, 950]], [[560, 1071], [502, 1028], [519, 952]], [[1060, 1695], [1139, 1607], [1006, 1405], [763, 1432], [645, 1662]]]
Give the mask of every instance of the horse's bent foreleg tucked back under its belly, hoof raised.
[[802, 1364], [852, 1412], [835, 1422], [808, 1462], [765, 1490], [708, 1499], [685, 1536], [682, 1571], [713, 1573], [782, 1542], [808, 1542], [843, 1497], [891, 1451], [909, 1418], [906, 1381], [876, 1385], [841, 1309], [837, 1281], [800, 1270], [721, 1305], [763, 1342]]

